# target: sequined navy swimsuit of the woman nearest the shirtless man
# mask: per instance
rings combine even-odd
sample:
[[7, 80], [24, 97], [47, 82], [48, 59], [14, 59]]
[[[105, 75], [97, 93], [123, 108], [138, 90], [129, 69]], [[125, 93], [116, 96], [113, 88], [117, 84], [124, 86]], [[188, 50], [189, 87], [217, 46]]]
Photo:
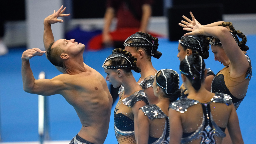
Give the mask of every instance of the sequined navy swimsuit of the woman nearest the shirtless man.
[[121, 100], [123, 92], [124, 87], [121, 86], [118, 92], [120, 99], [114, 111], [115, 135], [119, 144], [136, 144], [132, 107], [137, 101], [144, 101], [149, 104], [148, 98], [145, 96], [144, 91], [140, 90]]

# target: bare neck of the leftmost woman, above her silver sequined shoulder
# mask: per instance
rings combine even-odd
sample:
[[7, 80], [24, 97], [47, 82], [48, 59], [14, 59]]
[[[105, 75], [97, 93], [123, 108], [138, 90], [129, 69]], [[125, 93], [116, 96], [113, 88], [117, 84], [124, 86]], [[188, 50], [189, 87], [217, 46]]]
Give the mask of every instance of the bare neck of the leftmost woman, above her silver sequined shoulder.
[[124, 87], [123, 98], [129, 97], [136, 91], [142, 90], [141, 86], [136, 82], [133, 75], [129, 77], [124, 77], [122, 79], [122, 86]]

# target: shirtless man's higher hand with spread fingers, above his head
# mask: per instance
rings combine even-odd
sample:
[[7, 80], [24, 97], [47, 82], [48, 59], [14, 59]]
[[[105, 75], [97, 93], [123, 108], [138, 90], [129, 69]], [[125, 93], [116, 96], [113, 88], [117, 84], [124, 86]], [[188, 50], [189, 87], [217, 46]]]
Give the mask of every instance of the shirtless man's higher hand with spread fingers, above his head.
[[55, 10], [54, 10], [53, 14], [49, 15], [47, 18], [44, 19], [44, 23], [49, 24], [49, 25], [55, 24], [58, 22], [62, 23], [63, 20], [57, 19], [57, 18], [70, 15], [70, 14], [63, 14], [63, 12], [66, 10], [66, 7], [64, 9], [62, 9], [62, 8], [63, 8], [63, 6], [61, 6], [57, 12], [55, 12]]

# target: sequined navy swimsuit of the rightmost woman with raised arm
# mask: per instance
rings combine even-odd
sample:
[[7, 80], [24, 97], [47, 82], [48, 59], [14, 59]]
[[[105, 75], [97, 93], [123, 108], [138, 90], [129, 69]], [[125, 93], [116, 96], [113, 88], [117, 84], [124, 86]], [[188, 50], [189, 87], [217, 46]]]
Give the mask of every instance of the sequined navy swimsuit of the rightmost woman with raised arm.
[[[237, 78], [231, 78], [229, 76], [228, 66], [226, 66], [225, 68], [223, 68], [222, 70], [220, 70], [216, 74], [216, 76], [212, 80], [212, 85], [211, 85], [211, 92], [213, 92], [213, 93], [215, 93], [215, 92], [225, 93], [225, 94], [230, 95], [231, 98], [232, 98], [232, 102], [233, 102], [236, 109], [239, 107], [240, 103], [245, 98], [246, 92], [243, 93], [243, 94], [237, 94], [237, 95], [243, 96], [243, 98], [239, 99], [239, 98], [236, 98], [234, 95], [231, 94], [230, 89], [232, 89], [232, 92], [235, 93], [234, 92], [235, 91], [234, 90], [235, 86], [238, 86], [240, 84], [241, 85], [247, 85], [247, 83], [244, 82], [244, 81], [246, 79], [249, 79], [249, 80], [251, 79], [251, 77], [252, 77], [251, 60], [250, 60], [249, 56], [247, 56], [247, 55], [246, 55], [246, 58], [249, 62], [249, 68], [248, 68], [247, 72], [244, 75], [242, 75], [240, 77], [237, 77]], [[228, 79], [230, 79], [230, 81], [231, 81], [230, 83], [227, 83], [227, 79], [225, 79], [225, 76], [227, 76]], [[244, 83], [242, 83], [242, 82], [244, 82]], [[249, 85], [249, 82], [248, 82], [248, 85]], [[248, 88], [248, 85], [247, 85], [247, 88]]]

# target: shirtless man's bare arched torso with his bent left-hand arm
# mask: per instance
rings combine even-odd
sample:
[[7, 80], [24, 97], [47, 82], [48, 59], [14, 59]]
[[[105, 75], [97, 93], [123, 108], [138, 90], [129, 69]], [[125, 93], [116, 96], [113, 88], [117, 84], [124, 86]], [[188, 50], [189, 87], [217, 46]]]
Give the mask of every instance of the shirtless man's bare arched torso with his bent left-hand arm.
[[78, 135], [94, 144], [103, 144], [108, 133], [112, 106], [112, 97], [105, 79], [96, 70], [84, 64], [84, 72], [36, 80], [29, 59], [45, 52], [34, 48], [22, 54], [24, 90], [45, 96], [61, 94], [75, 108], [80, 118], [82, 128]]

